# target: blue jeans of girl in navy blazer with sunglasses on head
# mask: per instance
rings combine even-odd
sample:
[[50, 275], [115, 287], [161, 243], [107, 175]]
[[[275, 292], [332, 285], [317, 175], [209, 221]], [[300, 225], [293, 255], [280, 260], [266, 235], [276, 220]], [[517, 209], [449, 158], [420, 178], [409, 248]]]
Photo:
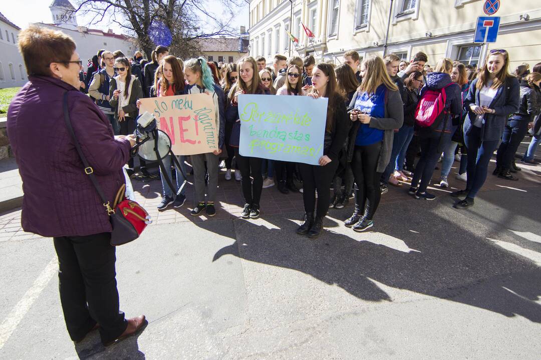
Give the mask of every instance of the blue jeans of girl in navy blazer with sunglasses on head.
[[489, 162], [498, 146], [498, 140], [481, 140], [481, 128], [472, 126], [470, 133], [464, 134], [464, 142], [468, 148], [466, 190], [468, 198], [475, 198], [479, 189], [485, 184]]

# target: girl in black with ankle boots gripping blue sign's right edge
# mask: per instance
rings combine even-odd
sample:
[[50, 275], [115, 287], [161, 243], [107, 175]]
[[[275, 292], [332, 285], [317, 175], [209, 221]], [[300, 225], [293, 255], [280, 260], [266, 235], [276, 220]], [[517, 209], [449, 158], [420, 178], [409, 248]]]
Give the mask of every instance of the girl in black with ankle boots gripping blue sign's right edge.
[[[318, 165], [299, 163], [302, 176], [302, 199], [305, 207], [305, 222], [297, 229], [297, 234], [315, 238], [323, 228], [323, 218], [327, 215], [331, 194], [331, 181], [338, 168], [338, 154], [344, 147], [349, 130], [344, 97], [337, 89], [337, 77], [331, 64], [317, 64], [312, 70], [312, 87], [308, 96], [317, 99], [328, 98], [323, 156]], [[318, 191], [318, 207], [315, 209], [315, 191]]]

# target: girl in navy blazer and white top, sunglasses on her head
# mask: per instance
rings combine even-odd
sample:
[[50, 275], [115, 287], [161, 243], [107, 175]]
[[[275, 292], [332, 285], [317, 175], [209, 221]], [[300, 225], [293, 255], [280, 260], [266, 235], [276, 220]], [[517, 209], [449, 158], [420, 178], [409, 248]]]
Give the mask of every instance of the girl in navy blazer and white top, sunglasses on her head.
[[[451, 193], [453, 198], [464, 198], [455, 203], [454, 208], [473, 206], [473, 199], [485, 183], [492, 153], [502, 138], [507, 118], [518, 110], [519, 98], [518, 79], [509, 73], [509, 54], [505, 50], [491, 50], [464, 100], [464, 109], [468, 112], [464, 119], [467, 181], [466, 189]], [[509, 169], [503, 174], [510, 176]]]

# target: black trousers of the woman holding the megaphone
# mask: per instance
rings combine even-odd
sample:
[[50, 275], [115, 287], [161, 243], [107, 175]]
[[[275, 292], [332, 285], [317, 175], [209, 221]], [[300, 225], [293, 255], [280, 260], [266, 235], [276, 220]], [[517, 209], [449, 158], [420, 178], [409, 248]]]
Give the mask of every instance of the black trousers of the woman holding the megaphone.
[[119, 310], [115, 247], [110, 233], [54, 237], [64, 320], [72, 340], [82, 339], [96, 322], [102, 342], [128, 327]]

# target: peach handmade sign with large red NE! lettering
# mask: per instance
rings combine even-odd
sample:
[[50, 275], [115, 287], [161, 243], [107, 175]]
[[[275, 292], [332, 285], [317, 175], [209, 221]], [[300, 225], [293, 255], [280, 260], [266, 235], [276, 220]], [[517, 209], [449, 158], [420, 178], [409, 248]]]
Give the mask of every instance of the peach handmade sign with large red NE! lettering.
[[216, 110], [212, 96], [192, 94], [140, 99], [140, 113], [154, 113], [158, 128], [169, 135], [175, 155], [218, 149]]

